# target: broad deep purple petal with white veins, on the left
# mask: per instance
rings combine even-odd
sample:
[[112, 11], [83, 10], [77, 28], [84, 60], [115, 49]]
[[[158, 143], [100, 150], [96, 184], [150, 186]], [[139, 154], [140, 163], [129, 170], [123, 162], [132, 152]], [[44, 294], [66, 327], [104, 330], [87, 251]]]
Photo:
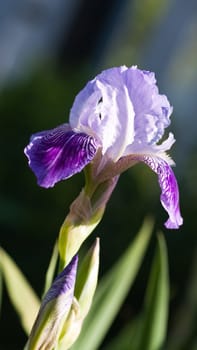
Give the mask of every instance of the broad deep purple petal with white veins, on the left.
[[92, 136], [74, 132], [68, 124], [63, 124], [33, 135], [25, 154], [38, 184], [47, 188], [80, 172], [93, 159], [96, 150]]

